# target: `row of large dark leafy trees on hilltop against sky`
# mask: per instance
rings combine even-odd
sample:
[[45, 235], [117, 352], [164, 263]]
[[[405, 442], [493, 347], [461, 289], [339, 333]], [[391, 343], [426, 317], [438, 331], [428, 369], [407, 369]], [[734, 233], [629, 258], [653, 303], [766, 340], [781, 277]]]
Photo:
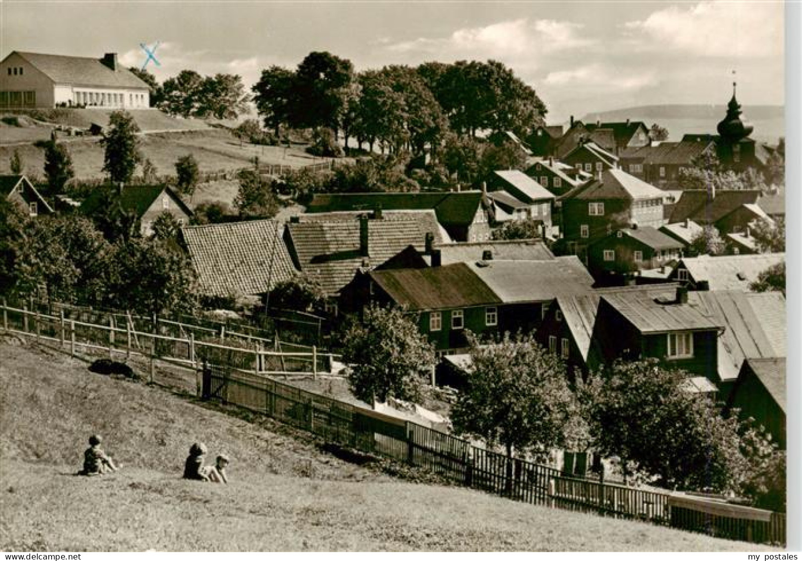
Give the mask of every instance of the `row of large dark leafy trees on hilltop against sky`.
[[349, 139], [413, 155], [439, 147], [448, 131], [513, 131], [526, 137], [544, 123], [532, 87], [496, 61], [388, 66], [355, 73], [353, 64], [312, 52], [293, 71], [269, 67], [253, 86], [265, 127], [327, 127]]

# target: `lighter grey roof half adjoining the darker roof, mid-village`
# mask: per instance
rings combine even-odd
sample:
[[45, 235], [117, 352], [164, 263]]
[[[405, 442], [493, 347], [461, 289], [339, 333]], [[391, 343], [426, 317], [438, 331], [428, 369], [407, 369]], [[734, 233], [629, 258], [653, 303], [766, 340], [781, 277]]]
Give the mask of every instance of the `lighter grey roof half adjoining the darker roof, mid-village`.
[[469, 263], [501, 301], [543, 302], [565, 294], [581, 294], [593, 277], [577, 256], [550, 260], [489, 260]]

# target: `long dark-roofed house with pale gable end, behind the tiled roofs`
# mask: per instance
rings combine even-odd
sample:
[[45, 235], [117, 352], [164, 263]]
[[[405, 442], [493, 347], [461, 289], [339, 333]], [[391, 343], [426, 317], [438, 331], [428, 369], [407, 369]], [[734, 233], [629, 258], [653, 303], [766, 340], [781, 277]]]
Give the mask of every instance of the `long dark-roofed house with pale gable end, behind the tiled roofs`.
[[490, 203], [481, 191], [439, 193], [338, 193], [315, 195], [307, 213], [434, 210], [452, 240], [490, 239]]

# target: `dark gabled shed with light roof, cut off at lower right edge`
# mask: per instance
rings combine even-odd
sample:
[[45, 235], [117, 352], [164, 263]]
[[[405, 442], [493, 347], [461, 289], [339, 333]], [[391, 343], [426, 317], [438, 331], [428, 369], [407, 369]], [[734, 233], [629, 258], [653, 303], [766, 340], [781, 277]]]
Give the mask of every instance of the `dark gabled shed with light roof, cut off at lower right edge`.
[[739, 410], [739, 418], [752, 418], [763, 426], [772, 441], [785, 450], [786, 411], [788, 396], [785, 389], [785, 358], [750, 358], [743, 361], [733, 385], [725, 411]]

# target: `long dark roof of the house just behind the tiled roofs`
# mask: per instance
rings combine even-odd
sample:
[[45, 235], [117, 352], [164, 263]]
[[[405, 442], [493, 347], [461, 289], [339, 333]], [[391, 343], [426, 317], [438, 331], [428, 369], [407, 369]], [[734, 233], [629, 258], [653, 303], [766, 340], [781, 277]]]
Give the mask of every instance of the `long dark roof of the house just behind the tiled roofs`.
[[434, 210], [444, 227], [468, 226], [482, 204], [481, 191], [441, 193], [337, 193], [314, 196], [306, 212]]

